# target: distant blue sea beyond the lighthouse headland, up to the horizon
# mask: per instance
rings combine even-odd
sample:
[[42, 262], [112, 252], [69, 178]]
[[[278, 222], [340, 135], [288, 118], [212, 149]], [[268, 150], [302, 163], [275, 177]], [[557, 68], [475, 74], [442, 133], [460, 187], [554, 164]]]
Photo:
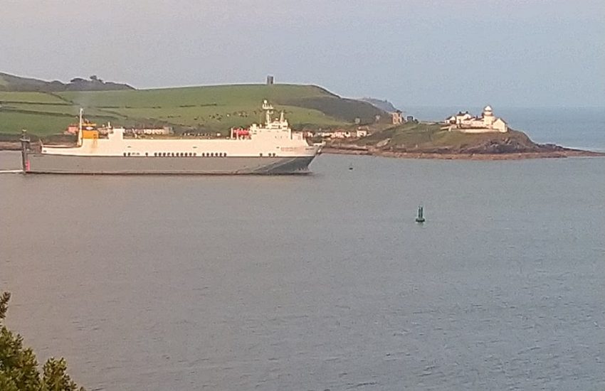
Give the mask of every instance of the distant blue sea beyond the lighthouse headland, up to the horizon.
[[[409, 107], [408, 114], [424, 120], [441, 120], [458, 111], [481, 114], [483, 107]], [[538, 143], [605, 151], [605, 107], [521, 108], [494, 107], [512, 129], [527, 133]]]

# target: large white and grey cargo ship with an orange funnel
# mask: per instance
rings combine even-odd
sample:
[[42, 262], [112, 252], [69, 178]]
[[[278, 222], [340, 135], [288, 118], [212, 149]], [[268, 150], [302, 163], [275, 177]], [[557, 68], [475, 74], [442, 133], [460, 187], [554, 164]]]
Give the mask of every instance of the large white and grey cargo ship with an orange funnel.
[[265, 100], [265, 124], [231, 130], [223, 139], [125, 137], [109, 128], [107, 136], [83, 129], [82, 112], [75, 146], [41, 146], [33, 152], [22, 137], [25, 173], [83, 174], [294, 174], [308, 173], [321, 144], [309, 144], [293, 132], [281, 112]]

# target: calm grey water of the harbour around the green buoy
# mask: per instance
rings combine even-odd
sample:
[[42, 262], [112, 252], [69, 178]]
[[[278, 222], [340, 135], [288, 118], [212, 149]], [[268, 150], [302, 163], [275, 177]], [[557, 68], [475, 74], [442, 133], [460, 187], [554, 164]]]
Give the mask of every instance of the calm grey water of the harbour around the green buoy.
[[1, 175], [9, 326], [90, 390], [605, 388], [605, 159], [312, 171]]

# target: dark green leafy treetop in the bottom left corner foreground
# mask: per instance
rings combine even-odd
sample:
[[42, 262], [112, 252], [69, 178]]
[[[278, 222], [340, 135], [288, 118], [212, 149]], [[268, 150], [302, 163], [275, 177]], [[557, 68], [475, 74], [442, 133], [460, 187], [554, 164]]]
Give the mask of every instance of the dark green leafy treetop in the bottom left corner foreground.
[[49, 358], [38, 371], [31, 348], [23, 347], [23, 337], [4, 324], [11, 294], [0, 296], [0, 390], [2, 391], [83, 391], [67, 374], [63, 358]]

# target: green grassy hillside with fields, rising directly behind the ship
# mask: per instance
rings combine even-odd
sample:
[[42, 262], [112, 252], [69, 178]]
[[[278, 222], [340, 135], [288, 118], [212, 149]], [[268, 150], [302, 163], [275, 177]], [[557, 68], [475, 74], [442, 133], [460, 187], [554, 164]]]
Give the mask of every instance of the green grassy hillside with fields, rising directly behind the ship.
[[79, 107], [99, 123], [228, 132], [262, 119], [261, 103], [284, 110], [295, 129], [350, 125], [356, 117], [374, 122], [385, 113], [367, 102], [347, 100], [313, 85], [216, 85], [156, 90], [86, 92], [0, 92], [0, 133], [63, 132]]

